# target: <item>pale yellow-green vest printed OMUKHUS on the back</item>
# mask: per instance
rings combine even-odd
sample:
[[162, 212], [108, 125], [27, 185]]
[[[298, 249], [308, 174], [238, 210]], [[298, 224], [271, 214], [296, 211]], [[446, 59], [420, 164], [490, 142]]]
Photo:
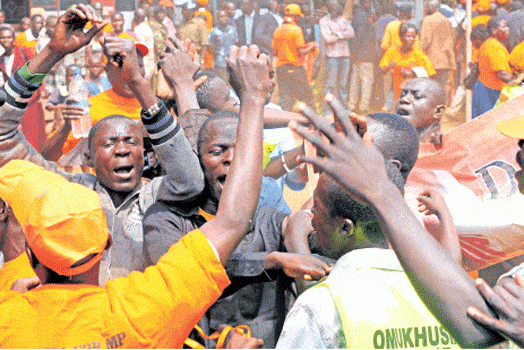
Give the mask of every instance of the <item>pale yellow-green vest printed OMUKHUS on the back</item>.
[[346, 348], [459, 348], [420, 300], [394, 253], [386, 254], [374, 254], [367, 266], [339, 267], [317, 287], [333, 298]]

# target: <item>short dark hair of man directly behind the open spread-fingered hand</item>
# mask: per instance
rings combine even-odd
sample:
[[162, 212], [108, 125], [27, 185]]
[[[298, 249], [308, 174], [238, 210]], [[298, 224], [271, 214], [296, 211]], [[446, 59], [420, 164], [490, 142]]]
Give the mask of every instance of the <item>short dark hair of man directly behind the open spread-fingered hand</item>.
[[366, 116], [368, 131], [385, 159], [402, 163], [400, 173], [407, 179], [418, 158], [419, 137], [411, 122], [394, 113], [371, 113]]

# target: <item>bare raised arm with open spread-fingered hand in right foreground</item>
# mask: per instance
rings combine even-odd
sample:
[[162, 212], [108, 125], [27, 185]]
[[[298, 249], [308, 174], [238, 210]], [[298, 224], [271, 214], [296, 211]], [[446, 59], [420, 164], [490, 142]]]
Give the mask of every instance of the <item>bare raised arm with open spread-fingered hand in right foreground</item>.
[[433, 315], [466, 348], [488, 347], [502, 341], [500, 335], [481, 327], [467, 316], [475, 306], [493, 315], [464, 269], [431, 237], [408, 208], [402, 194], [389, 182], [380, 152], [357, 134], [341, 103], [326, 98], [343, 127], [337, 133], [329, 122], [303, 105], [303, 113], [333, 144], [294, 125], [323, 151], [326, 158], [303, 157], [329, 173], [356, 199], [370, 205], [387, 235], [413, 287]]

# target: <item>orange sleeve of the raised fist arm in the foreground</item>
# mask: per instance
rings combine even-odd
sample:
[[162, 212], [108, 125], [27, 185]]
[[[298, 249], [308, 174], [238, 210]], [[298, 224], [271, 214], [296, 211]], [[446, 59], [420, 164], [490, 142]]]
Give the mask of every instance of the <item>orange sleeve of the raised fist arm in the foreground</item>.
[[150, 340], [152, 348], [181, 348], [228, 284], [208, 240], [200, 230], [194, 230], [155, 266], [110, 280], [105, 288], [111, 310]]

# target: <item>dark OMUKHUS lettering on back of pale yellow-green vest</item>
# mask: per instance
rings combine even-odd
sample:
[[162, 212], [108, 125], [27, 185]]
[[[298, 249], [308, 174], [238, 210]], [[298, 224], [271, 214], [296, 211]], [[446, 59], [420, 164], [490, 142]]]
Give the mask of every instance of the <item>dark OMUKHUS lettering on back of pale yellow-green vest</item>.
[[457, 343], [442, 326], [379, 329], [373, 334], [375, 349], [450, 348]]

